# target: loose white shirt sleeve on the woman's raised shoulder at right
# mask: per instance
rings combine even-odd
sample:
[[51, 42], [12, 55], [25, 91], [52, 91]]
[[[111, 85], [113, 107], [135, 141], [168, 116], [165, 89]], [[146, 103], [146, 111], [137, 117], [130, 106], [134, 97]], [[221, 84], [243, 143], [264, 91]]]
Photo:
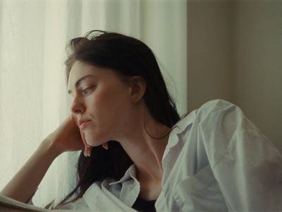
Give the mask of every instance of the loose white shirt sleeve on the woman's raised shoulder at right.
[[239, 107], [225, 101], [209, 106], [200, 110], [198, 131], [228, 209], [281, 210], [281, 153]]

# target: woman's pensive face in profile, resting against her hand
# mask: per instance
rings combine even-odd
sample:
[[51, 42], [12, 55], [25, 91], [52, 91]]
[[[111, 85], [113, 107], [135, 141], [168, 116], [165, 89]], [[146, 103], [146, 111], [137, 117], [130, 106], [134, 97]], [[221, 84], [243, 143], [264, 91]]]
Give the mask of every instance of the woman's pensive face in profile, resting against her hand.
[[123, 136], [133, 111], [130, 89], [111, 69], [75, 61], [68, 78], [71, 111], [90, 146]]

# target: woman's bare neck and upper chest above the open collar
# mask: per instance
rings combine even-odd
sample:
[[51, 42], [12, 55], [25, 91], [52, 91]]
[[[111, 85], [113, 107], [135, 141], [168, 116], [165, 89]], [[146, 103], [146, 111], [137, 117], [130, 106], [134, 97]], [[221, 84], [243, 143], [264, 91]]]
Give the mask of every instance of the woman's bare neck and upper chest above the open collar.
[[170, 129], [154, 119], [134, 128], [135, 130], [131, 130], [129, 136], [123, 139], [121, 146], [137, 167], [137, 179], [140, 182], [161, 181], [161, 160]]

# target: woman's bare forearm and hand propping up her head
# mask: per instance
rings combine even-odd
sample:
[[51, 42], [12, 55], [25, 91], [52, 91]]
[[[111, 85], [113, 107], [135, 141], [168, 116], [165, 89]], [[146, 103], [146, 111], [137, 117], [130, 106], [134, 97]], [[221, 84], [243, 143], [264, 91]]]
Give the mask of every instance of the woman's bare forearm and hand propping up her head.
[[84, 135], [75, 124], [75, 120], [73, 117], [68, 117], [56, 131], [42, 141], [35, 153], [0, 194], [27, 203], [57, 156], [65, 151], [82, 149], [85, 149], [85, 153], [90, 151], [90, 147], [85, 143]]

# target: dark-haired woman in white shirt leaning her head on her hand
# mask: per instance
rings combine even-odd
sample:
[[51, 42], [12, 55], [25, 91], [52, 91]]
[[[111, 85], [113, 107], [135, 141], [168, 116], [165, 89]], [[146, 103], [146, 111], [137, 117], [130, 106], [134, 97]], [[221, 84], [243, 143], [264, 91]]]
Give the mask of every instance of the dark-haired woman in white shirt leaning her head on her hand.
[[83, 150], [78, 186], [56, 208], [282, 208], [281, 154], [238, 107], [213, 100], [180, 119], [154, 54], [140, 40], [92, 31], [69, 46], [72, 114], [1, 194], [29, 201], [58, 155]]

